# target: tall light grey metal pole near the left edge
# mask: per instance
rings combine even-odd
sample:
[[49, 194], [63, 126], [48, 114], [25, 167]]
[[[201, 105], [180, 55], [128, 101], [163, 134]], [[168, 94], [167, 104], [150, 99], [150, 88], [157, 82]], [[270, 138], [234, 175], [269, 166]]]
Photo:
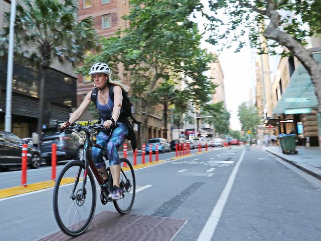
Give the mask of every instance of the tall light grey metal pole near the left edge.
[[12, 72], [13, 72], [13, 44], [14, 44], [14, 21], [16, 18], [16, 0], [11, 0], [10, 25], [9, 25], [9, 48], [7, 63], [7, 86], [5, 100], [4, 131], [11, 132], [11, 102], [12, 102]]

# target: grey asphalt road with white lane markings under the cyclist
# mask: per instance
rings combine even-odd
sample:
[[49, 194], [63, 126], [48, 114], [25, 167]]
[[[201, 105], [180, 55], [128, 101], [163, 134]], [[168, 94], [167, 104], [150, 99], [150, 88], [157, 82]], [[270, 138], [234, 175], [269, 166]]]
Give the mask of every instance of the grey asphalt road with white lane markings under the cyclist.
[[[10, 180], [3, 174], [1, 185]], [[137, 186], [148, 188], [137, 193], [132, 213], [188, 220], [175, 241], [321, 239], [320, 181], [258, 147], [216, 148], [135, 174]], [[103, 210], [115, 211], [98, 199], [95, 213]], [[52, 189], [0, 199], [0, 212], [0, 240], [39, 240], [59, 230]]]

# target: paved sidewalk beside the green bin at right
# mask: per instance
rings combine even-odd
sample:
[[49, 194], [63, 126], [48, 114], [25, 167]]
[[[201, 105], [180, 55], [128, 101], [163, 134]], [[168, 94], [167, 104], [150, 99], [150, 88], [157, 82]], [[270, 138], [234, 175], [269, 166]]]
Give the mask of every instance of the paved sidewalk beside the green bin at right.
[[298, 154], [283, 154], [280, 146], [260, 146], [321, 180], [321, 147], [297, 146]]

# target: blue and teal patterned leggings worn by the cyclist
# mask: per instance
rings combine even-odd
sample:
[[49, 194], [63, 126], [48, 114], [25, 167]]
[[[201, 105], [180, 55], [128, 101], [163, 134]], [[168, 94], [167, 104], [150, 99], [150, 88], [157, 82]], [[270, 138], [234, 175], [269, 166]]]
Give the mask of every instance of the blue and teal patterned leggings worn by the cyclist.
[[[107, 148], [109, 166], [120, 164], [118, 148], [123, 144], [128, 136], [127, 126], [120, 122], [117, 122], [117, 124], [118, 127], [114, 129], [110, 137], [103, 132], [100, 132], [96, 136], [97, 144]], [[106, 166], [102, 158], [102, 150], [94, 146], [92, 147], [92, 160], [95, 162], [95, 166], [97, 168]]]

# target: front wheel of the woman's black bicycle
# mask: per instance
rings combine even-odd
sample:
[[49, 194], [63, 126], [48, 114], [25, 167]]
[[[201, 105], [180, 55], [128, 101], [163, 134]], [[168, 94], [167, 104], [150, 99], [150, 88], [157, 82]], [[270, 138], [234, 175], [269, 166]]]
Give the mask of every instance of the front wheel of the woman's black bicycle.
[[[53, 190], [53, 211], [57, 224], [67, 235], [84, 233], [92, 222], [96, 187], [90, 169], [84, 180], [85, 164], [74, 160], [62, 169]], [[84, 187], [85, 183], [85, 187]]]

